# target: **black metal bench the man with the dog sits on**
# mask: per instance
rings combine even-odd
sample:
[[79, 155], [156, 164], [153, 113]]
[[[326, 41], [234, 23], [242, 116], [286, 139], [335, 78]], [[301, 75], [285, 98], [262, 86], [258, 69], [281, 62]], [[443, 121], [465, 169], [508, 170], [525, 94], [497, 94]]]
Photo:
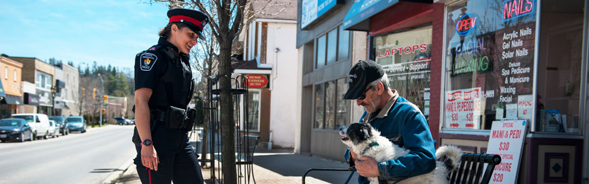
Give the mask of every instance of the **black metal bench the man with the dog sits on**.
[[[442, 158], [441, 161], [449, 161], [446, 158]], [[483, 167], [487, 163], [486, 170]], [[458, 168], [455, 168], [451, 173], [448, 173], [450, 183], [489, 183], [493, 169], [497, 164], [501, 163], [501, 157], [495, 154], [470, 154], [463, 153], [461, 156], [461, 163]], [[353, 172], [351, 168], [309, 168], [304, 172], [302, 183], [304, 184], [304, 178], [310, 171], [348, 171], [351, 172], [348, 176], [346, 184], [350, 181]], [[484, 172], [484, 173], [483, 173]], [[468, 181], [468, 182], [467, 182]]]

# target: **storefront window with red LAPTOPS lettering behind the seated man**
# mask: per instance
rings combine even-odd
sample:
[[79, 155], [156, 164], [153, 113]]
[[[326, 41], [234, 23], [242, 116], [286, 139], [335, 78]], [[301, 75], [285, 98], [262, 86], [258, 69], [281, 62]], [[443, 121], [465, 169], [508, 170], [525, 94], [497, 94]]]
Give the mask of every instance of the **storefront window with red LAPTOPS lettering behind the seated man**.
[[424, 95], [431, 71], [431, 25], [377, 36], [373, 43], [373, 58], [385, 69], [390, 87], [424, 112], [429, 104]]

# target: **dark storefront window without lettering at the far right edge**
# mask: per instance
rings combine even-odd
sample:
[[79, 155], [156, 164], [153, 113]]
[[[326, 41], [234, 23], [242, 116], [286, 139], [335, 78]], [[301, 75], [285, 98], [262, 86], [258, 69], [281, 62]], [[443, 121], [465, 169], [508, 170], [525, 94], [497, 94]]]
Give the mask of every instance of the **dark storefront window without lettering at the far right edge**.
[[584, 3], [551, 4], [540, 13], [536, 132], [581, 132]]

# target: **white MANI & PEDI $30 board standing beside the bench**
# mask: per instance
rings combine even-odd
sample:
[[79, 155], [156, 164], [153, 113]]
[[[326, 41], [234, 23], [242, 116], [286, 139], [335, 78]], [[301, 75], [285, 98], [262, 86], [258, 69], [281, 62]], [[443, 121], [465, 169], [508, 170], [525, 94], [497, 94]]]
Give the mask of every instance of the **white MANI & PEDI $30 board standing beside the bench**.
[[501, 156], [501, 163], [493, 168], [490, 183], [516, 183], [519, 160], [522, 158], [522, 149], [526, 137], [526, 128], [526, 120], [493, 122], [487, 145], [487, 154]]

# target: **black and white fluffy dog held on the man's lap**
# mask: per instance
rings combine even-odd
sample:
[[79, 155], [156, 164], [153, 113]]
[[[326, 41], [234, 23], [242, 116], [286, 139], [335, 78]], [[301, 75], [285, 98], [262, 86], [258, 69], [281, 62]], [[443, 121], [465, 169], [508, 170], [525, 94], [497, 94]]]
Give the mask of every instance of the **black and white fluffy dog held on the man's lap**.
[[[341, 142], [353, 148], [353, 151], [360, 156], [369, 156], [377, 162], [397, 159], [401, 156], [407, 156], [409, 150], [404, 149], [397, 144], [392, 144], [386, 137], [380, 136], [380, 132], [374, 130], [368, 123], [352, 123], [349, 127], [341, 127], [339, 130]], [[404, 180], [387, 180], [387, 183], [448, 183], [449, 171], [460, 164], [462, 154], [461, 149], [456, 146], [441, 146], [436, 151], [436, 159], [446, 156], [451, 160], [448, 168], [444, 162], [436, 161], [434, 171], [425, 173]], [[368, 178], [370, 183], [378, 183], [378, 177]]]

